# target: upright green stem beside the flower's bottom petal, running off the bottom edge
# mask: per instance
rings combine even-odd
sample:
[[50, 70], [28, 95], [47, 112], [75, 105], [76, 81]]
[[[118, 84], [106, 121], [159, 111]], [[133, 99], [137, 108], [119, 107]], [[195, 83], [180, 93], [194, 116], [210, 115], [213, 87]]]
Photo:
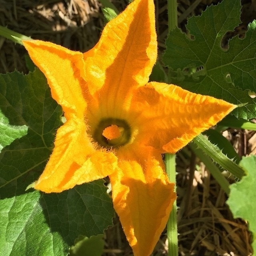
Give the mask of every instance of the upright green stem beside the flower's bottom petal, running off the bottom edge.
[[[175, 184], [174, 192], [176, 192], [176, 168], [175, 154], [165, 154], [166, 172], [170, 182]], [[167, 222], [168, 237], [168, 256], [178, 256], [178, 228], [177, 228], [177, 205], [176, 200], [173, 203], [172, 211]]]

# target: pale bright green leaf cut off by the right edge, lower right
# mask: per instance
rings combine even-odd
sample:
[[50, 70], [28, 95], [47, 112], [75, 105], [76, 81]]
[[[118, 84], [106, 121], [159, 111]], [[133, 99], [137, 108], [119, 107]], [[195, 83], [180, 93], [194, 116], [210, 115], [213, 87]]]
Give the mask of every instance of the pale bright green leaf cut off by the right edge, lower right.
[[227, 204], [234, 218], [243, 218], [249, 222], [250, 231], [254, 236], [252, 248], [256, 252], [256, 156], [242, 158], [240, 166], [245, 170], [246, 176], [230, 186]]

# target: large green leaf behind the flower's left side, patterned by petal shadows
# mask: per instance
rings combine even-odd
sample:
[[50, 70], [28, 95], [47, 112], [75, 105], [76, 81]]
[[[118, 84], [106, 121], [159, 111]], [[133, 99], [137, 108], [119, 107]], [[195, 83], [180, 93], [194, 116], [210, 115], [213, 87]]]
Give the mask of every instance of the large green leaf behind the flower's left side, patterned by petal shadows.
[[102, 180], [59, 194], [25, 192], [48, 161], [61, 116], [39, 70], [0, 75], [0, 256], [64, 256], [78, 235], [112, 224]]

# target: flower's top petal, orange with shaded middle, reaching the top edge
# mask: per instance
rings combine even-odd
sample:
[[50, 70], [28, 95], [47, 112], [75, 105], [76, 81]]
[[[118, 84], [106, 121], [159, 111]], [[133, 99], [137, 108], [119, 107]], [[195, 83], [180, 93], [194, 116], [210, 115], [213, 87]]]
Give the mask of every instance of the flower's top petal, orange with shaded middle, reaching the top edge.
[[132, 87], [148, 82], [156, 56], [154, 2], [134, 0], [108, 22], [98, 44], [86, 54], [84, 79], [90, 93], [94, 95], [102, 88], [101, 104], [102, 95], [108, 95], [105, 105], [116, 110], [131, 97]]

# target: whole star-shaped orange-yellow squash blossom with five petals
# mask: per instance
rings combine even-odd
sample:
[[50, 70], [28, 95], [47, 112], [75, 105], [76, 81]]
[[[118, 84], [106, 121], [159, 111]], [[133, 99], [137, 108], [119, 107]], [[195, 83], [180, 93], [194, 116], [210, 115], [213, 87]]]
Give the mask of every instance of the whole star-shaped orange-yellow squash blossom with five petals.
[[175, 153], [236, 106], [149, 82], [156, 62], [153, 0], [135, 0], [94, 48], [24, 41], [66, 122], [34, 188], [62, 192], [109, 176], [114, 208], [135, 256], [149, 256], [176, 199], [161, 154]]

